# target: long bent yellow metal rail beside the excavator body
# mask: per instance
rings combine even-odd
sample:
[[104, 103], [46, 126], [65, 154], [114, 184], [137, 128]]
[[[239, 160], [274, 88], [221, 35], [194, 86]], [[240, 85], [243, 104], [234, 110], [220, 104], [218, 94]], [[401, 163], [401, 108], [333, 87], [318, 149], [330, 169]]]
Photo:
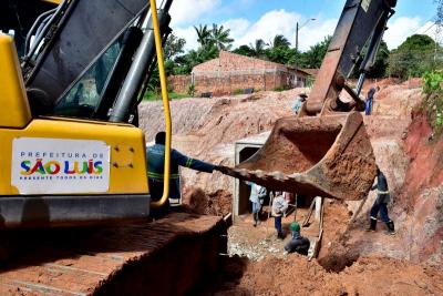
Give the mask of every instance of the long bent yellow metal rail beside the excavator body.
[[154, 39], [155, 39], [155, 51], [157, 53], [157, 63], [158, 63], [158, 72], [159, 72], [159, 82], [162, 88], [162, 100], [163, 100], [163, 109], [165, 114], [165, 132], [166, 132], [166, 145], [165, 145], [165, 169], [164, 169], [164, 180], [163, 180], [163, 196], [159, 201], [152, 202], [152, 207], [161, 207], [166, 203], [169, 197], [169, 175], [171, 175], [171, 134], [172, 134], [172, 125], [171, 125], [171, 109], [169, 109], [169, 98], [167, 94], [167, 85], [166, 85], [166, 72], [165, 65], [163, 61], [163, 49], [162, 49], [162, 38], [158, 25], [157, 18], [157, 4], [155, 0], [151, 1], [151, 16], [152, 16], [152, 24], [154, 29]]

